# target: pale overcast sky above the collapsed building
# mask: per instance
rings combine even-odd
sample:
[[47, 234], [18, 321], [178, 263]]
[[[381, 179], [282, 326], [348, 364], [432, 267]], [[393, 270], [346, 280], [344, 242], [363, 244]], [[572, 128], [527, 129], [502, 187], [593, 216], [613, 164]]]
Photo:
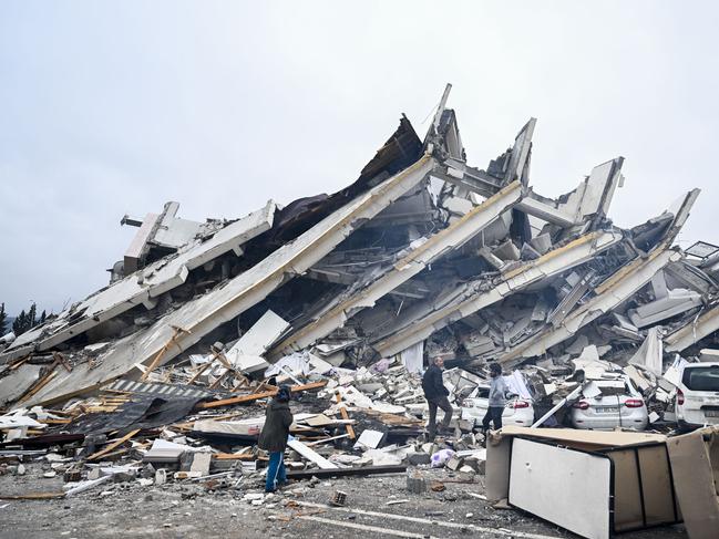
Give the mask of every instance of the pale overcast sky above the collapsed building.
[[3, 1], [0, 302], [59, 311], [106, 284], [143, 217], [234, 218], [353, 180], [446, 82], [469, 160], [530, 116], [556, 196], [623, 155], [612, 217], [702, 194], [680, 236], [719, 243], [719, 4]]

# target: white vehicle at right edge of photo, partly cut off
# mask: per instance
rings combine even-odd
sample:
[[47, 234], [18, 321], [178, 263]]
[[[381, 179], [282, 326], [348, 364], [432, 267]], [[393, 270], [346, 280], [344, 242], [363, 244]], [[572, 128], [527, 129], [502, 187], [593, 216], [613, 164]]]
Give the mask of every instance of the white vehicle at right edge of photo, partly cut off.
[[675, 402], [679, 428], [719, 425], [719, 363], [689, 363]]

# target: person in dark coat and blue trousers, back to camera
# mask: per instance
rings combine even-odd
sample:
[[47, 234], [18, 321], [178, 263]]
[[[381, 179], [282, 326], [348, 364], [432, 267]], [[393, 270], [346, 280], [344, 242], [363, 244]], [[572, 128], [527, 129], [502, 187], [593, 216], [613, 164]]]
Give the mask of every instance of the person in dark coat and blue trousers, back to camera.
[[287, 385], [280, 386], [277, 395], [267, 405], [265, 411], [265, 425], [259, 434], [257, 445], [269, 453], [267, 466], [267, 480], [265, 491], [274, 493], [278, 485], [287, 483], [285, 470], [285, 448], [289, 426], [292, 424], [292, 413], [289, 411], [290, 390]]

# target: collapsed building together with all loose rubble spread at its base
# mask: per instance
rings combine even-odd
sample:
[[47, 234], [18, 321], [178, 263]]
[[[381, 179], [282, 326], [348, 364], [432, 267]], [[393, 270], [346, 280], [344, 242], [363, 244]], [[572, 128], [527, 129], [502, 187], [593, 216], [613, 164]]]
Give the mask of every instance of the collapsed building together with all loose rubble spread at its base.
[[[332, 195], [236, 220], [183, 219], [177, 203], [125, 216], [137, 232], [109, 286], [2, 339], [0, 453], [64, 474], [63, 496], [123, 480], [244, 491], [266, 462], [261, 404], [288, 383], [290, 476], [446, 466], [471, 481], [486, 405], [468, 403], [491, 361], [533, 410], [514, 425], [571, 426], [573, 403], [628, 380], [649, 428], [671, 433], [682, 365], [719, 354], [719, 248], [674, 246], [699, 190], [618, 228], [623, 157], [542, 196], [536, 121], [476, 168], [449, 91], [423, 139], [403, 116]], [[438, 356], [456, 414], [431, 440], [421, 373]], [[419, 471], [408, 488], [425, 488]]]

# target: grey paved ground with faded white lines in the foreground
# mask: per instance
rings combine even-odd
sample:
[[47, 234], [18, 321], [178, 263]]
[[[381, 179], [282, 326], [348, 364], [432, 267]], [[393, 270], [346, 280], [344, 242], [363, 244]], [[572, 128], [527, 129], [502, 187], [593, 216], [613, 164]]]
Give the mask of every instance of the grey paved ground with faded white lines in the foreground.
[[[44, 478], [39, 464], [27, 474], [0, 476], [0, 495], [62, 491], [61, 475]], [[243, 497], [263, 493], [261, 478], [249, 474], [235, 488], [207, 490], [198, 483], [143, 487], [136, 480], [104, 484], [75, 497], [0, 500], [0, 538], [357, 538], [357, 537], [576, 537], [516, 509], [493, 509], [483, 476], [460, 480], [446, 469], [423, 470], [445, 490], [407, 491], [404, 474], [296, 481], [251, 505]], [[336, 490], [345, 507], [328, 505]], [[686, 538], [681, 525], [623, 533], [625, 539]]]

